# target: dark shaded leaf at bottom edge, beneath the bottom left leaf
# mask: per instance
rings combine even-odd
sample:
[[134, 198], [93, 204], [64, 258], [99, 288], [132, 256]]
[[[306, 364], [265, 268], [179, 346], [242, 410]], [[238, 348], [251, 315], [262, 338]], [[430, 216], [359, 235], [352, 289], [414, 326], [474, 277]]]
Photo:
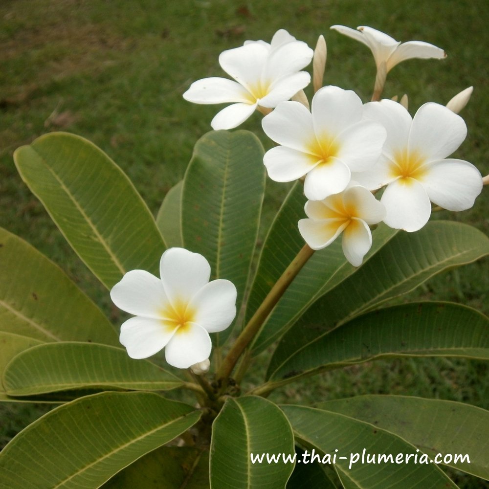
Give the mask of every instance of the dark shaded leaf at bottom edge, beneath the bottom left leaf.
[[209, 489], [209, 451], [162, 446], [115, 474], [102, 489]]

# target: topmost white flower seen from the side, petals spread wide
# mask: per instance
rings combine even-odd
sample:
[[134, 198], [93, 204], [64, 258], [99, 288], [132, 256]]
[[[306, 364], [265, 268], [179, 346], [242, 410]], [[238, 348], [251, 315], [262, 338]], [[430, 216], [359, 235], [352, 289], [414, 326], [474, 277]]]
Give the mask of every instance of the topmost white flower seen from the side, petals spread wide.
[[331, 28], [370, 47], [377, 68], [382, 62], [385, 62], [387, 72], [401, 61], [411, 58], [441, 59], [446, 57], [445, 51], [433, 44], [423, 41], [409, 41], [401, 44], [391, 36], [372, 27], [362, 25], [352, 29], [345, 25], [332, 25]]

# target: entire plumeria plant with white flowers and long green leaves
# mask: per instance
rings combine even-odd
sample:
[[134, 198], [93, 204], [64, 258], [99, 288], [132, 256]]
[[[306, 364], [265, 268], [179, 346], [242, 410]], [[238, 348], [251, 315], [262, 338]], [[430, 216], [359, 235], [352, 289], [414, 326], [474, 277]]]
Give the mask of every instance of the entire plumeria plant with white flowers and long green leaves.
[[[156, 219], [82, 137], [48, 133], [15, 152], [22, 179], [128, 315], [112, 325], [1, 230], [0, 397], [55, 405], [0, 453], [1, 487], [456, 488], [443, 466], [489, 479], [483, 409], [394, 395], [267, 399], [378, 358], [489, 359], [481, 312], [388, 302], [489, 253], [474, 227], [429, 222], [471, 207], [487, 183], [451, 157], [471, 88], [411, 116], [407, 97], [382, 99], [387, 73], [445, 52], [332, 28], [372, 50], [372, 100], [323, 86], [323, 36], [312, 50], [282, 29], [224, 51], [232, 79], [204, 78], [183, 97], [231, 105]], [[276, 143], [266, 153], [257, 135], [229, 131], [256, 111], [257, 133]], [[293, 183], [263, 238], [267, 178]]]

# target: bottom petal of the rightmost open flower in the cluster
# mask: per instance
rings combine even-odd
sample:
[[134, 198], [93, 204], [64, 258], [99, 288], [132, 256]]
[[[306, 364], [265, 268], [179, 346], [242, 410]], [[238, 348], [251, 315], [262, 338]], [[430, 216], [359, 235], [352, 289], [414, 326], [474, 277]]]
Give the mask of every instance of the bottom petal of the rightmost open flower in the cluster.
[[380, 201], [387, 212], [384, 222], [394, 229], [418, 231], [431, 215], [428, 195], [422, 184], [414, 178], [398, 179], [390, 183]]

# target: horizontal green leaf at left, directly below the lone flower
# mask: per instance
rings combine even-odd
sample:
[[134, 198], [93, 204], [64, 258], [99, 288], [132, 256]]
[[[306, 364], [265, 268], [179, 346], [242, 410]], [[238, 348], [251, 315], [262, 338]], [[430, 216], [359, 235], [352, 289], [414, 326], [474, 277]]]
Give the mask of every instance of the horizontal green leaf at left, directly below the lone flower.
[[121, 348], [45, 343], [16, 356], [4, 371], [3, 384], [9, 396], [33, 396], [73, 389], [168, 390], [182, 381]]

